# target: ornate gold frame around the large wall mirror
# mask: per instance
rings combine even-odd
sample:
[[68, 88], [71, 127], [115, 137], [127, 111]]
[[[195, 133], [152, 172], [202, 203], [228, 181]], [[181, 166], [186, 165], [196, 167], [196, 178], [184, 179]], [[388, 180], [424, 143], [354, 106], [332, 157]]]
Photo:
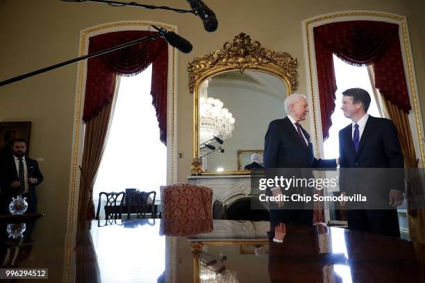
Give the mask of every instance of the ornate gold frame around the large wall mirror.
[[297, 89], [297, 59], [289, 53], [265, 49], [260, 42], [251, 40], [249, 35], [240, 33], [232, 41], [224, 43], [208, 55], [194, 58], [188, 65], [189, 89], [193, 93], [193, 161], [192, 175], [246, 174], [244, 171], [204, 172], [199, 160], [199, 88], [202, 83], [219, 73], [245, 70], [261, 71], [281, 78], [289, 95]]

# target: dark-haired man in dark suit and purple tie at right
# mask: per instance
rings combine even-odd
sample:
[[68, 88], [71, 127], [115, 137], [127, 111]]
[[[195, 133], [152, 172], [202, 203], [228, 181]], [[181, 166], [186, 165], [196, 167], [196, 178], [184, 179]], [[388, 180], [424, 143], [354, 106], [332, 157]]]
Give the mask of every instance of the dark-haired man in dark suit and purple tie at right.
[[[382, 196], [386, 206], [372, 210], [371, 205], [377, 205], [372, 200], [367, 205], [369, 209], [348, 206], [349, 229], [400, 237], [396, 207], [403, 203], [404, 164], [397, 130], [391, 120], [367, 114], [371, 98], [364, 89], [347, 89], [342, 95], [341, 109], [352, 123], [339, 132], [340, 190], [343, 195], [363, 191], [367, 198]], [[360, 178], [358, 171], [363, 172]], [[371, 178], [375, 179], [374, 184], [367, 183]]]

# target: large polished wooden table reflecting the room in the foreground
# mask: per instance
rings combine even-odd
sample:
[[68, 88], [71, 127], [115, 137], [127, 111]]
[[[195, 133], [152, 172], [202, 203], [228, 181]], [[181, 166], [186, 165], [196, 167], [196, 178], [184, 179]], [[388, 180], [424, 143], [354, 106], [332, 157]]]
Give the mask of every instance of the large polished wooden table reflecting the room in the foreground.
[[32, 282], [425, 282], [419, 243], [294, 225], [274, 243], [265, 221], [92, 221], [73, 234], [67, 271], [67, 237], [44, 233], [43, 218], [19, 239], [0, 221], [2, 268], [49, 268], [48, 280]]

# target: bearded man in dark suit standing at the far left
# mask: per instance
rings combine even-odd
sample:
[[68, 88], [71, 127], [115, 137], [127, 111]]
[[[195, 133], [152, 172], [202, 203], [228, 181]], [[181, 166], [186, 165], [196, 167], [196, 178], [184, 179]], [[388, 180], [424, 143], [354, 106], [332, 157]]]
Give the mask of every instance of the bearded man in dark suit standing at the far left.
[[15, 139], [12, 144], [13, 158], [6, 160], [1, 166], [0, 210], [8, 211], [12, 197], [22, 195], [28, 202], [27, 212], [37, 211], [35, 186], [43, 181], [38, 162], [25, 156], [25, 139]]

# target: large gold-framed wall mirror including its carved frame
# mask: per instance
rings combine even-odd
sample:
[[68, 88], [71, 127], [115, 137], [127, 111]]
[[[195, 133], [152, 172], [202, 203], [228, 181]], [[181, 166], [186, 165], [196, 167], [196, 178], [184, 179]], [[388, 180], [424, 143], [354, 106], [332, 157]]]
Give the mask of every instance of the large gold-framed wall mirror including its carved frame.
[[247, 174], [253, 160], [262, 165], [269, 122], [285, 117], [283, 102], [297, 87], [295, 67], [288, 53], [264, 49], [244, 33], [189, 64], [192, 174]]

